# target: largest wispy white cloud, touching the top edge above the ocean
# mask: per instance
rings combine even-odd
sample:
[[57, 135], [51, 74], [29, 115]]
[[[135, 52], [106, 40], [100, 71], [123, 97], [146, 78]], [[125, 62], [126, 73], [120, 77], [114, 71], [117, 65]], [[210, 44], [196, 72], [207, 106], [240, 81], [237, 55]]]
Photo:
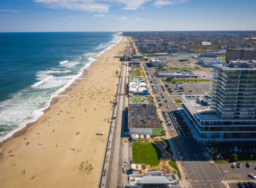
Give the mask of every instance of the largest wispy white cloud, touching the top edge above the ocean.
[[108, 12], [110, 5], [99, 3], [96, 0], [34, 0], [52, 9], [68, 9], [90, 12]]

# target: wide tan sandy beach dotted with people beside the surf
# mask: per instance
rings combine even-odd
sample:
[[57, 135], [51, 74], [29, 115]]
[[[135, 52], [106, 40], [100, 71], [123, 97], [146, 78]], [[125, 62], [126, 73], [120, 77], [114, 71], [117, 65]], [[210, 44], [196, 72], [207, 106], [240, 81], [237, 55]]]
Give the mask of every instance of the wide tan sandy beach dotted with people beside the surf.
[[123, 51], [127, 42], [123, 37], [97, 57], [67, 96], [1, 146], [0, 187], [99, 186], [113, 112], [110, 101], [118, 83], [115, 72], [121, 69], [113, 54]]

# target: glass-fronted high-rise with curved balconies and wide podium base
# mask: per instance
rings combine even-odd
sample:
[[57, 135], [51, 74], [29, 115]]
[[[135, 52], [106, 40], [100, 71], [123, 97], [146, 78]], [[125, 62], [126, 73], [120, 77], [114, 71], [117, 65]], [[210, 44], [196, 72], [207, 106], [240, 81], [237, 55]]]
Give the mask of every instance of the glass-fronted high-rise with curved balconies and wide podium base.
[[202, 137], [256, 138], [256, 61], [213, 67], [211, 105], [182, 96], [182, 108]]

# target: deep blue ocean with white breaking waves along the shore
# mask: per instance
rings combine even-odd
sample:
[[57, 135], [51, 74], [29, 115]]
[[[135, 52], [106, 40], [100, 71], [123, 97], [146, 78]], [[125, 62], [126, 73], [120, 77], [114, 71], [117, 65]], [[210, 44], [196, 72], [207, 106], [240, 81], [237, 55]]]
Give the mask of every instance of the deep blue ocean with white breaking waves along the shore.
[[0, 33], [0, 141], [36, 121], [52, 97], [119, 43], [117, 34]]

